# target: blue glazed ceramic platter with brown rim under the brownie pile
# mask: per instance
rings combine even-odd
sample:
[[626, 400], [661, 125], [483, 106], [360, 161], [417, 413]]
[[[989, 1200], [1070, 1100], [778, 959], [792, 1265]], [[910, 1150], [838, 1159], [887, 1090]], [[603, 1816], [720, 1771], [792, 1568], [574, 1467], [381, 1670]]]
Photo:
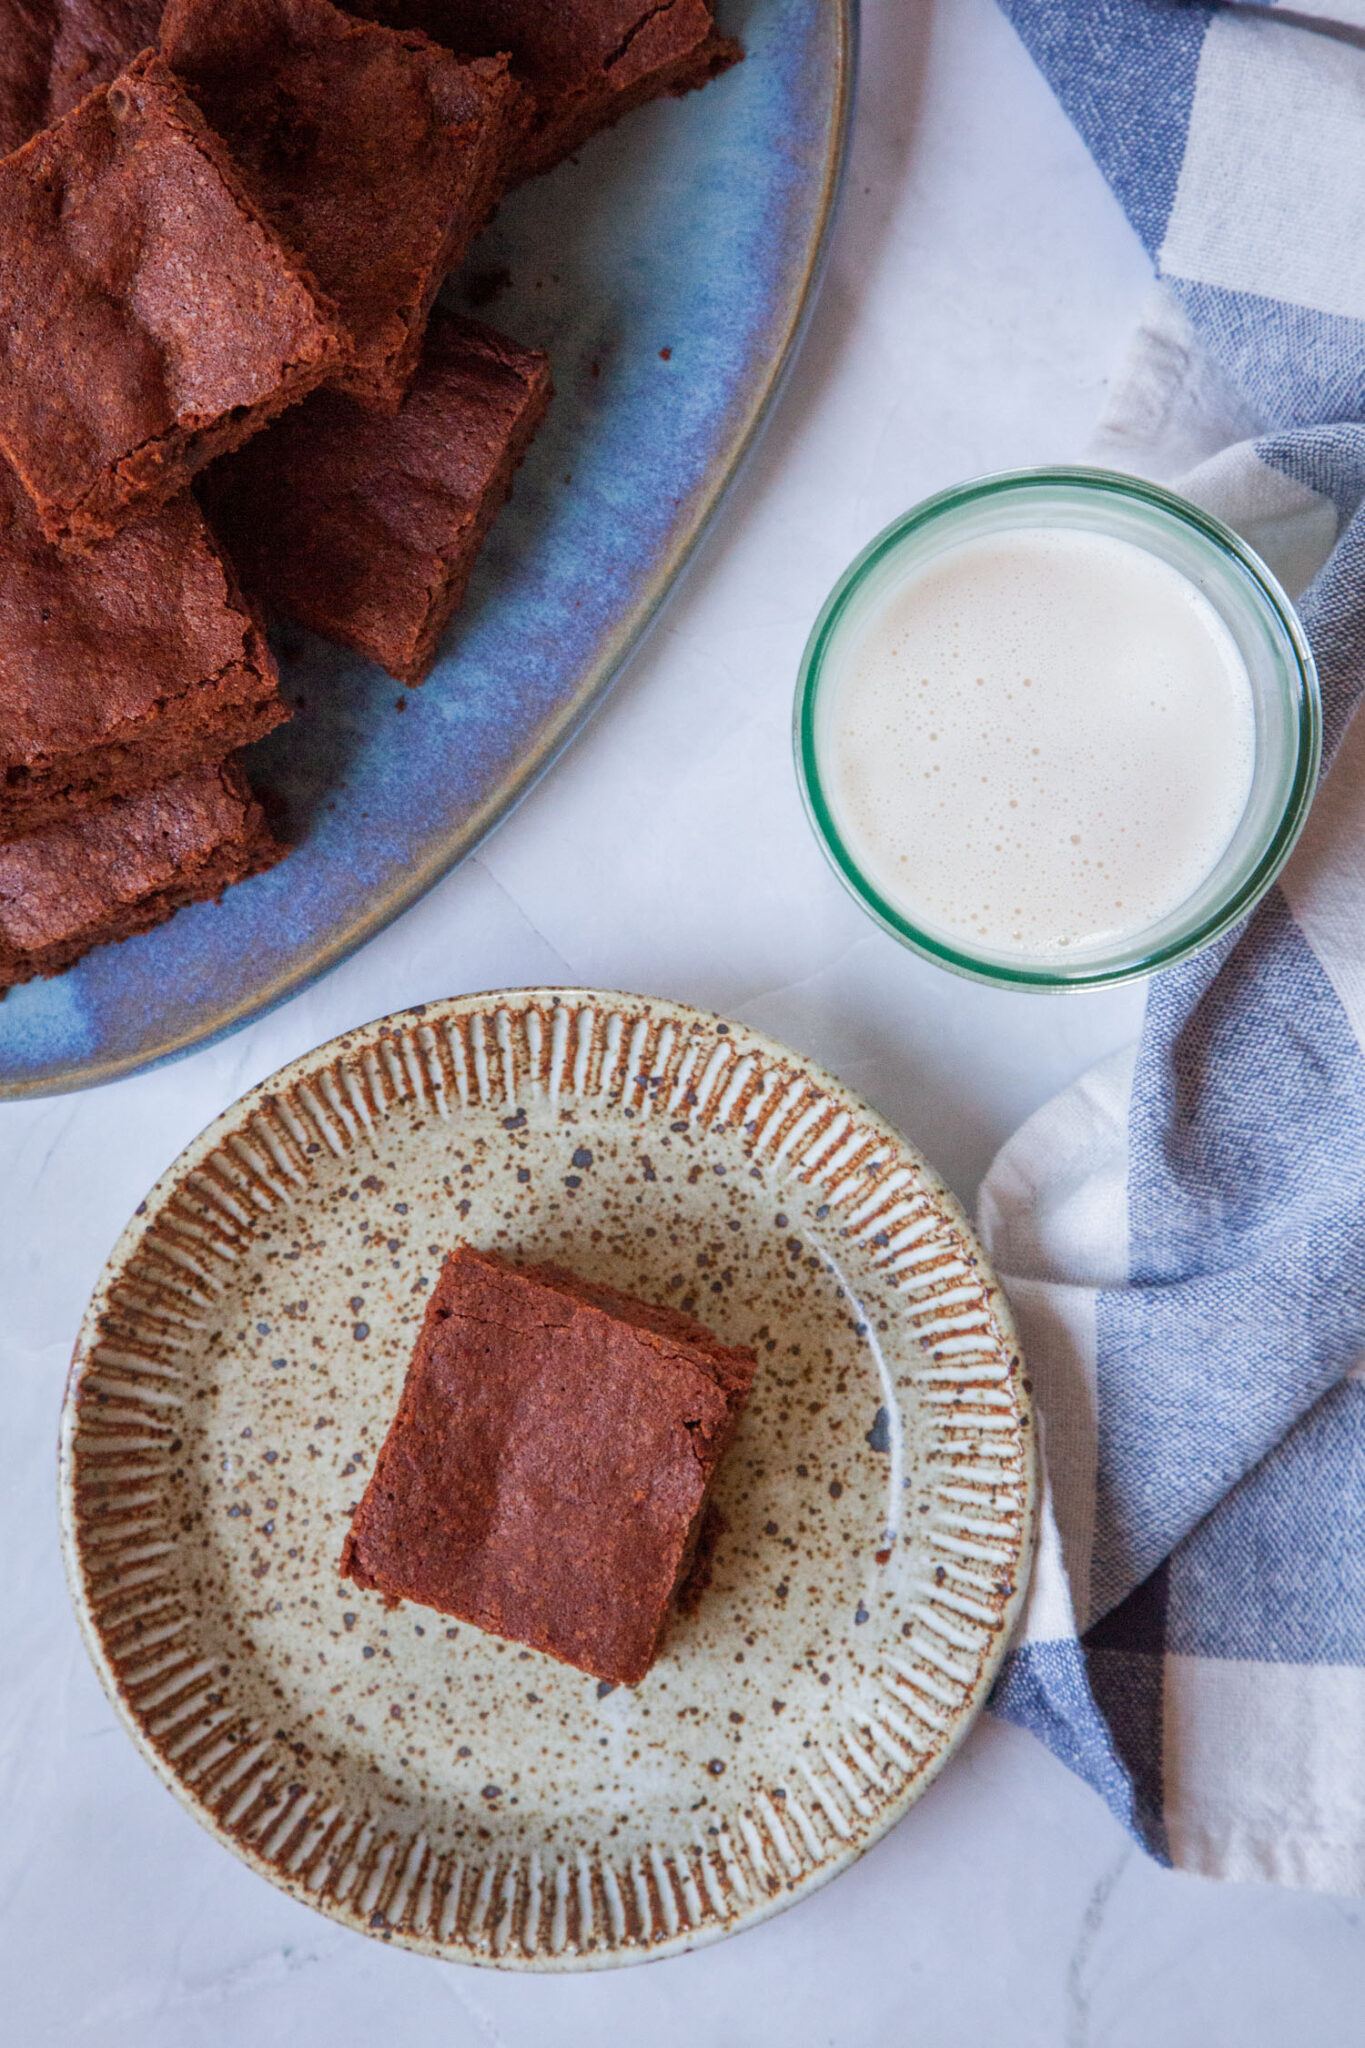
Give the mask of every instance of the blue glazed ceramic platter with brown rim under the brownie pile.
[[571, 739], [681, 571], [794, 346], [843, 158], [851, 12], [720, 0], [745, 63], [508, 201], [452, 303], [546, 348], [557, 397], [442, 659], [401, 690], [280, 633], [297, 715], [248, 768], [284, 813], [289, 860], [14, 989], [0, 1096], [108, 1081], [282, 1001], [469, 854]]

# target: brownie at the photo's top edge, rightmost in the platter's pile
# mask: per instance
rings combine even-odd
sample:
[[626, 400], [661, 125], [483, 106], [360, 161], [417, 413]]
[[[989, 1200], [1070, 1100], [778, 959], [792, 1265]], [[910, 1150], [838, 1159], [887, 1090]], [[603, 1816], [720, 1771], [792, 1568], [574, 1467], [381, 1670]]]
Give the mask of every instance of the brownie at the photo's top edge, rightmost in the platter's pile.
[[692, 92], [741, 57], [712, 0], [358, 0], [358, 14], [426, 29], [467, 55], [505, 49], [536, 100], [512, 180], [663, 92]]

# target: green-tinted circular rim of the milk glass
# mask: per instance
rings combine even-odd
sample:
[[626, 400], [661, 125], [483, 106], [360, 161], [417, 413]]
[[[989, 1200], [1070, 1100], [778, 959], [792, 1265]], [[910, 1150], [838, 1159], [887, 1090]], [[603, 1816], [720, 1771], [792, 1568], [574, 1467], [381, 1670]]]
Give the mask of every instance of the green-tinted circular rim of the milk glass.
[[[1240, 877], [1228, 897], [1195, 920], [1187, 930], [1177, 932], [1158, 946], [1134, 952], [1132, 958], [1103, 961], [1095, 967], [1081, 965], [1056, 971], [1042, 967], [1015, 967], [1007, 961], [993, 961], [966, 952], [952, 946], [948, 940], [921, 930], [905, 918], [902, 911], [888, 903], [843, 844], [821, 782], [814, 737], [825, 655], [829, 653], [843, 614], [862, 584], [911, 535], [935, 524], [945, 514], [960, 512], [986, 498], [1003, 498], [1013, 492], [1038, 489], [1040, 485], [1076, 487], [1081, 492], [1093, 492], [1099, 498], [1107, 496], [1136, 502], [1156, 510], [1158, 514], [1166, 514], [1197, 532], [1226, 561], [1232, 563], [1232, 567], [1257, 594], [1261, 608], [1271, 616], [1285, 641], [1289, 653], [1287, 672], [1297, 684], [1295, 700], [1291, 705], [1297, 748], [1285, 805], [1259, 858]], [[792, 743], [802, 803], [825, 858], [845, 889], [868, 911], [868, 915], [882, 926], [884, 932], [890, 932], [892, 938], [898, 938], [923, 958], [933, 961], [939, 967], [948, 967], [952, 973], [966, 975], [972, 981], [986, 981], [997, 987], [1013, 989], [1101, 989], [1113, 987], [1121, 981], [1136, 981], [1138, 977], [1150, 975], [1160, 967], [1173, 967], [1177, 961], [1189, 958], [1191, 952], [1199, 952], [1203, 946], [1209, 946], [1259, 903], [1293, 852], [1293, 842], [1304, 827], [1304, 819], [1308, 817], [1308, 809], [1314, 799], [1318, 766], [1322, 760], [1322, 702], [1318, 694], [1318, 670], [1293, 602], [1254, 549], [1250, 549], [1240, 535], [1232, 532], [1230, 526], [1224, 526], [1222, 520], [1199, 510], [1199, 506], [1193, 506], [1187, 498], [1179, 498], [1175, 492], [1162, 489], [1158, 483], [1146, 483], [1140, 477], [1126, 477], [1109, 469], [1007, 469], [995, 475], [974, 477], [968, 483], [956, 483], [945, 492], [937, 492], [933, 498], [921, 500], [921, 504], [902, 512], [900, 518], [894, 518], [890, 526], [884, 526], [849, 563], [821, 606], [821, 614], [810, 629], [810, 639], [806, 641], [806, 649], [800, 657]]]

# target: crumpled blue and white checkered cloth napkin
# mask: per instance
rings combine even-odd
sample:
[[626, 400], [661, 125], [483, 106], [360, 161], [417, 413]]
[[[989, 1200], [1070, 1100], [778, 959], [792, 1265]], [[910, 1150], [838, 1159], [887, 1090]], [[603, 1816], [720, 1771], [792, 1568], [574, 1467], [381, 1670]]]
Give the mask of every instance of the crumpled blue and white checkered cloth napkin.
[[1001, 4], [1160, 279], [1095, 453], [1302, 592], [1330, 774], [982, 1188], [1050, 1477], [995, 1710], [1162, 1860], [1365, 1892], [1365, 37]]

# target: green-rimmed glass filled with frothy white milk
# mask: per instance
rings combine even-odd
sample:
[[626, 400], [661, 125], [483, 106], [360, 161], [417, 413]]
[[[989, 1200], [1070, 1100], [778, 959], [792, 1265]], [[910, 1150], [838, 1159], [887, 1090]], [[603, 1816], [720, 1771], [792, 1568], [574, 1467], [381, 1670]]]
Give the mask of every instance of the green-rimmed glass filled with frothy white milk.
[[1312, 653], [1265, 563], [1099, 469], [907, 512], [833, 590], [796, 690], [837, 874], [907, 946], [1019, 989], [1207, 946], [1287, 860], [1318, 758]]

